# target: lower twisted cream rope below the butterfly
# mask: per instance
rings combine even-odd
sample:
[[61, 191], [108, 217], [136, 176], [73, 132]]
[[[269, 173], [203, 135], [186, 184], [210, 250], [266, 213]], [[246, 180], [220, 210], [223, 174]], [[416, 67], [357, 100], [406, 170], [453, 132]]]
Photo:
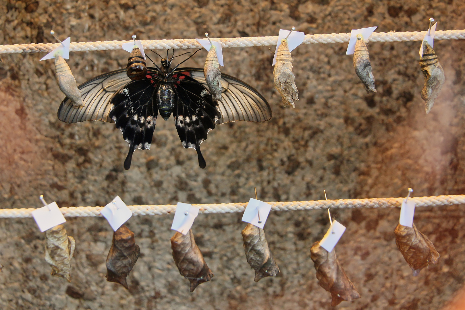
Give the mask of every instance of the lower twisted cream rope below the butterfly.
[[[327, 208], [394, 208], [400, 207], [405, 198], [365, 198], [338, 200], [311, 200], [268, 202], [272, 211], [314, 210]], [[429, 197], [413, 197], [417, 207], [438, 207], [453, 204], [465, 204], [465, 195], [441, 195]], [[233, 213], [243, 212], [248, 203], [230, 204], [193, 204], [200, 208], [200, 213]], [[128, 205], [133, 215], [163, 215], [176, 211], [175, 204]], [[64, 207], [60, 208], [65, 217], [100, 217], [104, 207]], [[36, 209], [0, 209], [0, 218], [32, 218], [31, 212]]]

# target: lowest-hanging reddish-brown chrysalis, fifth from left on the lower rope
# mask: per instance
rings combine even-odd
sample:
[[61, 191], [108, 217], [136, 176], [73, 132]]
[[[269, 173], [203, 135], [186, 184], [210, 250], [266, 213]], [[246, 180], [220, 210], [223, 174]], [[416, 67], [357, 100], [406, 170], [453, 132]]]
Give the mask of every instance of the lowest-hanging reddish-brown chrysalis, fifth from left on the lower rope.
[[341, 301], [351, 301], [360, 297], [359, 292], [349, 280], [336, 257], [336, 250], [326, 251], [315, 242], [310, 249], [311, 258], [315, 263], [317, 278], [322, 288], [331, 293], [331, 305], [334, 307]]

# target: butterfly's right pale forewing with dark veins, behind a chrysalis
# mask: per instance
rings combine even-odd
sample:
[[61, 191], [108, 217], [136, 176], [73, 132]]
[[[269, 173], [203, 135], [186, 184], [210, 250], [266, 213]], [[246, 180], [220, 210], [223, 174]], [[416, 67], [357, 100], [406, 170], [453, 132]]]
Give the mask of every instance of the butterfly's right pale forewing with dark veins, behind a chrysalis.
[[[191, 78], [208, 89], [203, 69], [179, 68], [175, 73], [180, 71], [191, 73]], [[221, 117], [216, 124], [239, 120], [264, 122], [271, 119], [272, 112], [268, 102], [252, 86], [225, 73], [221, 73], [221, 86], [222, 101], [218, 101]]]

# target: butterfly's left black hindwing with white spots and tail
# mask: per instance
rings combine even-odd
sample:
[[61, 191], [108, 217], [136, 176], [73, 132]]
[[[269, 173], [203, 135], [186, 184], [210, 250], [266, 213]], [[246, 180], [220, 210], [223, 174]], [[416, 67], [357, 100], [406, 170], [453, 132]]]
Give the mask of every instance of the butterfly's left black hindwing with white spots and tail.
[[148, 150], [152, 143], [158, 116], [153, 93], [159, 86], [159, 79], [154, 76], [149, 72], [145, 79], [131, 81], [116, 92], [110, 102], [112, 110], [109, 117], [129, 143], [129, 152], [124, 161], [126, 170], [131, 166], [133, 152], [137, 149]]

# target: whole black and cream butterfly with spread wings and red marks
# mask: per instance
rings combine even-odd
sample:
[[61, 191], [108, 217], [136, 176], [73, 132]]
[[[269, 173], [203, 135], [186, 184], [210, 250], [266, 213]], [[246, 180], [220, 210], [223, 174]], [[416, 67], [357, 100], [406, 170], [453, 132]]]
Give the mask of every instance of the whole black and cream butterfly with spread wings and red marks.
[[65, 98], [58, 109], [58, 119], [66, 123], [86, 120], [115, 123], [129, 143], [124, 161], [126, 170], [135, 150], [150, 149], [158, 112], [165, 120], [173, 112], [182, 146], [197, 151], [200, 168], [206, 166], [200, 144], [215, 124], [271, 119], [268, 102], [252, 86], [222, 73], [222, 101], [214, 101], [203, 69], [178, 68], [190, 57], [172, 69], [173, 57], [174, 51], [171, 59], [166, 52], [161, 68], [154, 63], [156, 68], [149, 67], [140, 80], [129, 79], [126, 69], [120, 69], [84, 82], [79, 89], [85, 106], [75, 107]]

